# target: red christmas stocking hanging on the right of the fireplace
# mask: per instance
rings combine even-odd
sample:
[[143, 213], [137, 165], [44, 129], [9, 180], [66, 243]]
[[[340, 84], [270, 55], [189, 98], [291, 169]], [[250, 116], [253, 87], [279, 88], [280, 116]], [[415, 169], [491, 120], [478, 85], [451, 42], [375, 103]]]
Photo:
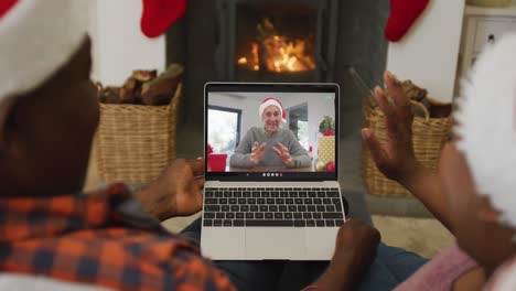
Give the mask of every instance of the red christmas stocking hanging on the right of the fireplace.
[[385, 36], [399, 41], [412, 26], [430, 0], [390, 0], [390, 14], [385, 26]]

